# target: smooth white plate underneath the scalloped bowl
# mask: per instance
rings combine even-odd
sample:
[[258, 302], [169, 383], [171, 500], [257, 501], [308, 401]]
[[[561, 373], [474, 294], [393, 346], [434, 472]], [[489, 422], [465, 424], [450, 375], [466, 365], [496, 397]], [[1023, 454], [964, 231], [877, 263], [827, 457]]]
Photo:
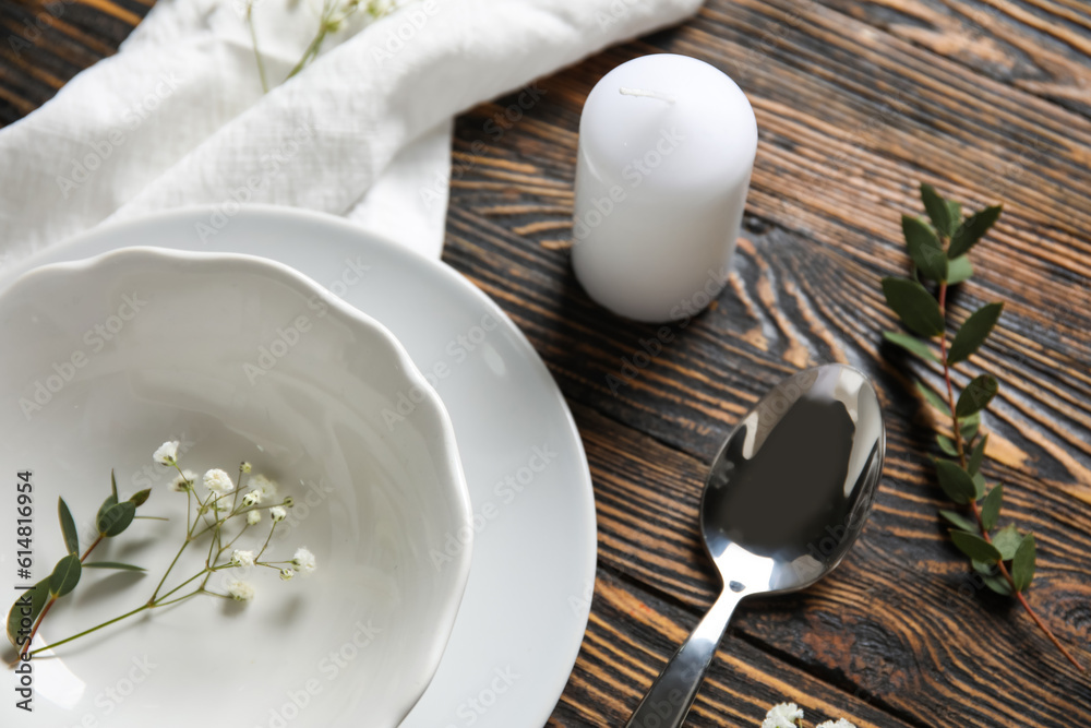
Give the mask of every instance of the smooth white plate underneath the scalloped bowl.
[[274, 207], [177, 211], [96, 230], [5, 271], [0, 286], [36, 265], [139, 244], [279, 261], [405, 345], [454, 422], [477, 533], [447, 651], [403, 727], [542, 726], [587, 624], [595, 504], [568, 408], [518, 329], [442, 263], [335, 217]]

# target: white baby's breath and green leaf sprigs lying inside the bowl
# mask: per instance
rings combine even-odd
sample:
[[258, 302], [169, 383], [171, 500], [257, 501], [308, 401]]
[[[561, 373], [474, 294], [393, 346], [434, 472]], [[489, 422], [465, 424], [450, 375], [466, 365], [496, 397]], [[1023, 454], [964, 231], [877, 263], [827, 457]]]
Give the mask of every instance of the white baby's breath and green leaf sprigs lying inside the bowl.
[[[39, 647], [31, 651], [29, 645], [41, 625], [52, 604], [60, 597], [69, 594], [75, 588], [80, 581], [82, 569], [121, 569], [129, 571], [141, 571], [141, 566], [123, 564], [117, 562], [86, 562], [87, 554], [104, 539], [113, 537], [123, 532], [136, 516], [136, 508], [142, 505], [151, 494], [151, 490], [142, 490], [128, 501], [118, 500], [117, 481], [111, 474], [111, 493], [103, 503], [98, 512], [98, 539], [83, 553], [79, 554], [79, 540], [75, 530], [75, 523], [69, 512], [68, 505], [61, 499], [59, 503], [61, 529], [64, 535], [64, 544], [68, 548], [68, 556], [58, 562], [53, 573], [43, 580], [34, 589], [29, 590], [29, 597], [16, 601], [8, 614], [8, 639], [15, 645], [16, 651], [28, 653], [34, 656], [43, 649], [52, 649], [85, 635], [96, 632], [105, 626], [109, 626], [124, 619], [139, 614], [149, 609], [175, 605], [200, 594], [213, 597], [231, 599], [235, 601], [250, 601], [255, 596], [253, 585], [241, 577], [230, 578], [226, 582], [224, 592], [218, 592], [208, 585], [213, 574], [232, 569], [269, 569], [277, 573], [281, 581], [289, 581], [296, 574], [310, 574], [316, 569], [314, 554], [305, 547], [296, 550], [290, 560], [272, 561], [263, 558], [265, 551], [273, 540], [277, 526], [288, 517], [288, 509], [292, 506], [290, 496], [280, 497], [277, 492], [276, 481], [261, 475], [250, 476], [245, 493], [242, 493], [242, 478], [252, 470], [250, 463], [242, 463], [239, 466], [237, 481], [231, 478], [226, 470], [214, 468], [207, 470], [200, 478], [203, 486], [203, 493], [197, 492], [199, 476], [192, 470], [183, 469], [178, 462], [178, 442], [166, 442], [155, 451], [153, 460], [163, 466], [172, 467], [178, 475], [168, 484], [168, 490], [178, 493], [185, 493], [185, 537], [181, 546], [175, 553], [170, 565], [164, 572], [163, 577], [156, 585], [152, 596], [135, 609], [119, 617], [96, 624], [87, 630], [74, 634], [59, 642], [53, 642], [47, 647]], [[238, 487], [237, 487], [238, 484]], [[268, 514], [269, 529], [265, 536], [260, 550], [236, 548], [236, 544], [250, 529], [260, 526], [265, 520], [264, 514]], [[201, 569], [189, 578], [168, 587], [167, 582], [175, 568], [178, 566], [182, 556], [199, 541], [207, 539], [207, 550], [204, 553]], [[190, 587], [190, 588], [187, 588]], [[181, 593], [181, 594], [179, 594]], [[21, 631], [21, 624], [26, 623], [26, 604], [31, 606], [29, 623], [33, 629], [27, 633]]]

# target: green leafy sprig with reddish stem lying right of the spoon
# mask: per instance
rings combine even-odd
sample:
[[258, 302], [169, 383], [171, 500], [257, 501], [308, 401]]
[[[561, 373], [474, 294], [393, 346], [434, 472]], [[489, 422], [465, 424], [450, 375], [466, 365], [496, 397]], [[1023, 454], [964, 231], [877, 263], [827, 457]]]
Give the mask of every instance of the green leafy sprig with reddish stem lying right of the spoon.
[[[883, 336], [942, 370], [940, 394], [923, 382], [916, 386], [925, 402], [950, 422], [944, 432], [936, 434], [936, 443], [947, 456], [935, 461], [939, 486], [948, 498], [968, 509], [972, 517], [947, 510], [939, 514], [954, 526], [949, 529], [951, 541], [970, 558], [971, 568], [982, 583], [993, 592], [1015, 597], [1057, 649], [1082, 672], [1083, 666], [1023, 595], [1034, 578], [1034, 535], [1019, 533], [1014, 524], [998, 527], [1004, 486], [990, 487], [982, 473], [988, 435], [980, 432], [981, 414], [996, 396], [999, 383], [990, 374], [979, 374], [956, 397], [951, 378], [955, 366], [968, 361], [985, 343], [1004, 308], [1003, 303], [982, 306], [967, 318], [948, 344], [948, 293], [951, 286], [973, 275], [970, 250], [999, 218], [1000, 206], [985, 207], [964, 217], [959, 203], [945, 200], [931, 184], [921, 184], [921, 201], [928, 220], [909, 215], [901, 218], [912, 275], [883, 279], [887, 305], [914, 335], [888, 331]], [[935, 295], [925, 288], [927, 282], [934, 282]]]

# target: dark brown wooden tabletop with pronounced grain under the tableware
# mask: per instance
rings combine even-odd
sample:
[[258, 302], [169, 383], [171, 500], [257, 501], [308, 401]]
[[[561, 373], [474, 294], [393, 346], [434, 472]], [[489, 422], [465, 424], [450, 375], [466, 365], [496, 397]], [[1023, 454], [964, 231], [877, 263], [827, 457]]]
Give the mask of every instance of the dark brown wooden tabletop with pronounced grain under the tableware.
[[[110, 53], [149, 4], [74, 0], [34, 34], [24, 21], [41, 7], [2, 0], [0, 122]], [[16, 35], [29, 47], [15, 48]], [[656, 329], [592, 303], [565, 244], [583, 102], [611, 68], [657, 51], [732, 75], [760, 144], [728, 290], [626, 379], [623, 362]], [[1004, 202], [954, 315], [1006, 303], [974, 360], [1003, 383], [986, 474], [1036, 535], [1031, 602], [1091, 665], [1091, 4], [711, 0], [683, 26], [539, 86], [541, 100], [499, 138], [489, 122], [514, 97], [458, 118], [444, 260], [546, 359], [595, 478], [592, 612], [549, 725], [624, 724], [717, 587], [695, 527], [706, 464], [769, 386], [824, 361], [860, 367], [879, 387], [888, 454], [874, 513], [831, 577], [741, 607], [687, 725], [757, 726], [782, 700], [811, 725], [1091, 723], [1091, 680], [1017, 605], [968, 586], [936, 515], [935, 445], [911, 386], [922, 369], [879, 345], [895, 321], [878, 293], [907, 267], [899, 216], [920, 212], [920, 181], [974, 208]]]

